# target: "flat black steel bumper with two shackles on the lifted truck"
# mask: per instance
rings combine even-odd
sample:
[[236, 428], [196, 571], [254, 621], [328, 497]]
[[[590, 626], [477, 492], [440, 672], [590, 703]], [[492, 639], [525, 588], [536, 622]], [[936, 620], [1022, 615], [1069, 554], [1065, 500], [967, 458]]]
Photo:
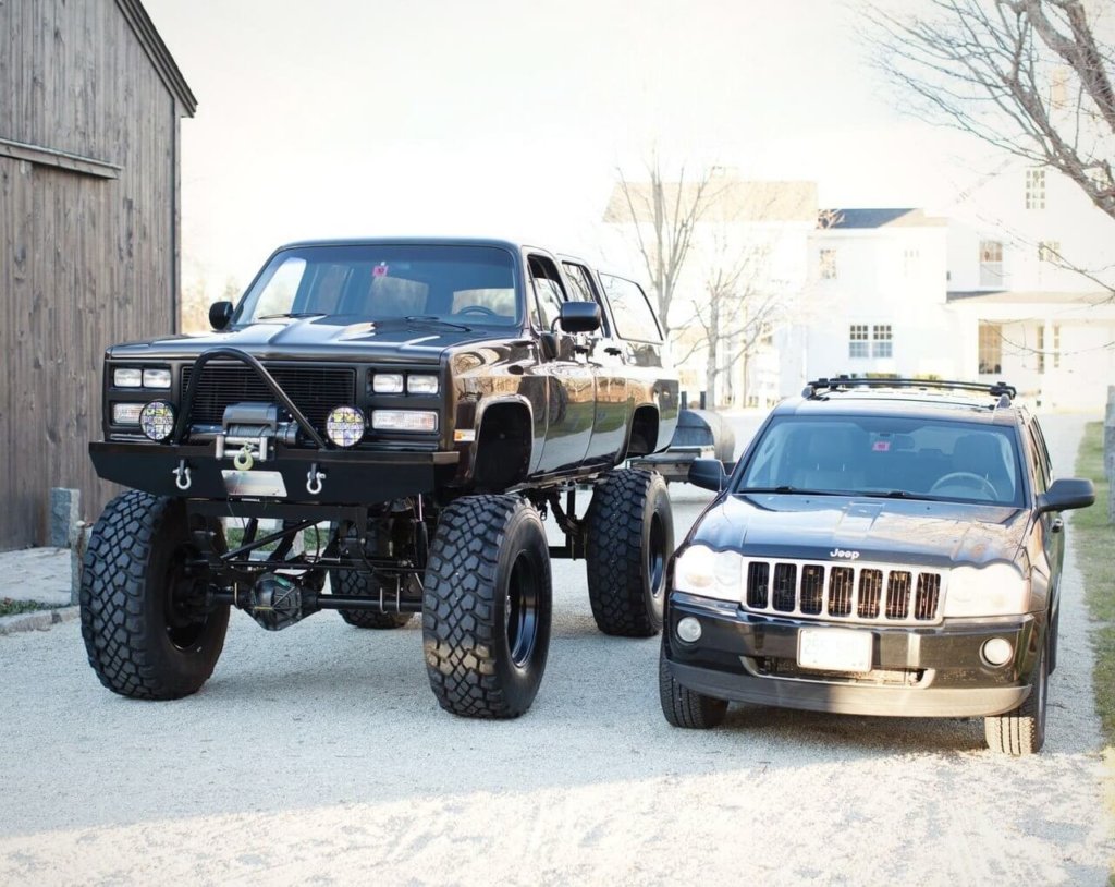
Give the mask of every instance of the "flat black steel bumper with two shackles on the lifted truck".
[[[217, 460], [213, 444], [94, 442], [89, 456], [101, 479], [156, 495], [366, 505], [437, 489], [452, 480], [460, 454], [279, 446], [274, 459], [255, 462], [246, 472], [237, 472], [231, 457]], [[185, 488], [187, 475], [180, 469], [190, 472]], [[252, 476], [237, 483], [243, 478], [232, 475]], [[266, 482], [253, 484], [255, 479]], [[278, 489], [280, 479], [284, 495], [259, 492]]]

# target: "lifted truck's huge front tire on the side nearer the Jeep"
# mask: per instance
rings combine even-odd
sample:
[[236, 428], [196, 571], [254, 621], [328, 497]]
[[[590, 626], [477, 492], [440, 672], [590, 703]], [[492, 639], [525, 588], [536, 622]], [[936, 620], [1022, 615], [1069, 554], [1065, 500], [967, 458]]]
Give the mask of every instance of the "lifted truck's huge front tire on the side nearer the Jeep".
[[443, 708], [487, 719], [530, 708], [551, 611], [550, 548], [530, 502], [471, 495], [442, 512], [426, 566], [423, 648]]

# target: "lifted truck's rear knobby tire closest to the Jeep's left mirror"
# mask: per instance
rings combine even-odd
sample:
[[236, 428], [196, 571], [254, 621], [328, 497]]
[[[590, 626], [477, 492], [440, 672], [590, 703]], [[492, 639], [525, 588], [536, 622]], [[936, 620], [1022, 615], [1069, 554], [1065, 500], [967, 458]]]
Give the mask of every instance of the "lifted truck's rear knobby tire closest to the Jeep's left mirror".
[[612, 472], [589, 505], [589, 602], [600, 630], [650, 637], [662, 628], [666, 561], [673, 511], [666, 481], [651, 471]]

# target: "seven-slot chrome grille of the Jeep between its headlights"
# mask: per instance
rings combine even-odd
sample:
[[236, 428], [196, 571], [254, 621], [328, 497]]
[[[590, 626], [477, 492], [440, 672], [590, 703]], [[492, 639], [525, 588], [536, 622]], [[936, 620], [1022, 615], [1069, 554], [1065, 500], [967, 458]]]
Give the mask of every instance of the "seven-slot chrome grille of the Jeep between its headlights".
[[941, 573], [918, 567], [750, 560], [745, 579], [752, 613], [886, 625], [940, 618]]

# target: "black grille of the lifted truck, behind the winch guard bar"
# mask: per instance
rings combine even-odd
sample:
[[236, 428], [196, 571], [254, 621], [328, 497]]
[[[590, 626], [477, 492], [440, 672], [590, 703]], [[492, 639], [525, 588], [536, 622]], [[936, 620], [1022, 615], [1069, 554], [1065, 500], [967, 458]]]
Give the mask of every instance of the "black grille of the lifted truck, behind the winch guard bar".
[[[356, 373], [351, 369], [264, 366], [316, 428], [326, 426], [326, 416], [334, 406], [356, 402]], [[193, 367], [182, 370], [183, 396], [192, 374]], [[243, 401], [271, 403], [274, 396], [255, 370], [243, 364], [206, 364], [194, 394], [190, 422], [220, 425], [224, 408]]]

